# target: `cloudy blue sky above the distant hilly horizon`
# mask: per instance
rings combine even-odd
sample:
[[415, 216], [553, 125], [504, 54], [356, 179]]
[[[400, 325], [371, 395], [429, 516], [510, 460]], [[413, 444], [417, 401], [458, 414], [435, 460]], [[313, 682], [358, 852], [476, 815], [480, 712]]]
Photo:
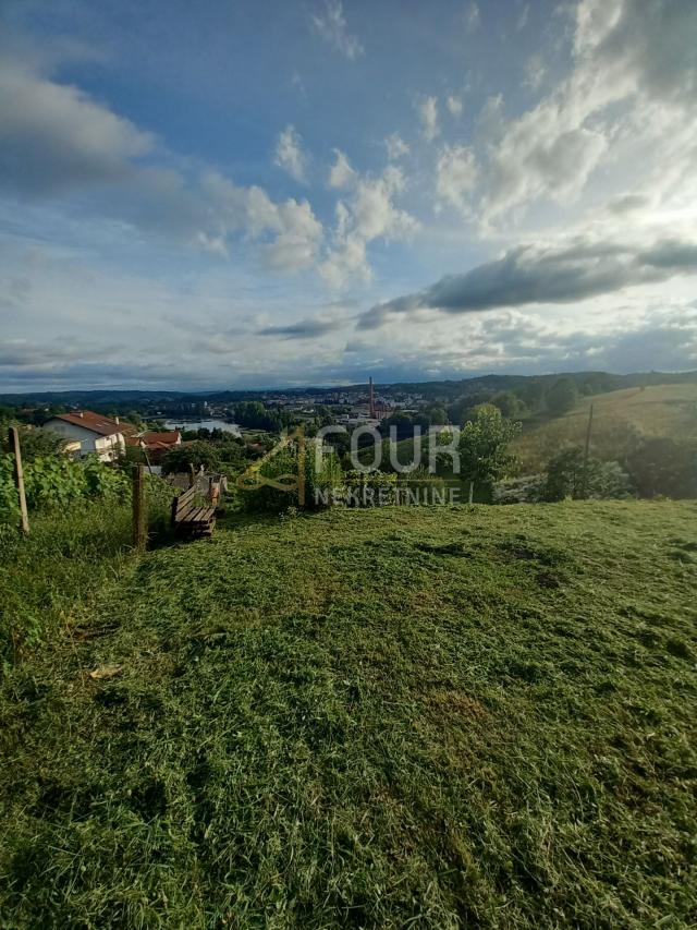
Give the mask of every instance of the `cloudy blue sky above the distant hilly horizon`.
[[2, 0], [0, 390], [697, 369], [695, 0]]

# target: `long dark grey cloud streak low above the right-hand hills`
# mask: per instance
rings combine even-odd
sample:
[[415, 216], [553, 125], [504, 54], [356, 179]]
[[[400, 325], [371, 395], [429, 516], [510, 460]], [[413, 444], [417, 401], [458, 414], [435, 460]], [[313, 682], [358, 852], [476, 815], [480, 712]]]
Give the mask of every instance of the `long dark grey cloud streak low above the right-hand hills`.
[[577, 238], [561, 245], [521, 245], [462, 275], [377, 304], [362, 316], [369, 328], [393, 314], [438, 310], [463, 314], [533, 303], [574, 303], [635, 285], [697, 274], [697, 240], [649, 245]]

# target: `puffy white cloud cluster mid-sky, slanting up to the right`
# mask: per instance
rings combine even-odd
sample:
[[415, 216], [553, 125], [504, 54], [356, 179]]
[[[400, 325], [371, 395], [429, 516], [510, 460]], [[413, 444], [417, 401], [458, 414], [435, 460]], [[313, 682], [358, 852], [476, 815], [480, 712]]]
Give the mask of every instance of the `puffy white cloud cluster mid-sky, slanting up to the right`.
[[319, 267], [331, 287], [343, 288], [352, 277], [370, 279], [368, 243], [376, 239], [405, 240], [414, 234], [417, 220], [394, 204], [403, 188], [402, 171], [389, 165], [379, 178], [360, 178], [352, 198], [339, 202], [332, 247]]

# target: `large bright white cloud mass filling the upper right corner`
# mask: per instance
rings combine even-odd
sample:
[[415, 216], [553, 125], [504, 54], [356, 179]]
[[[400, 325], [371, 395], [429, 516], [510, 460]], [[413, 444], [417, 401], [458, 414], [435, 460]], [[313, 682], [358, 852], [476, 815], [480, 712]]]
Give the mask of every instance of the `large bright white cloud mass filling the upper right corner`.
[[[683, 141], [682, 153], [670, 148], [671, 165], [692, 159], [696, 133], [685, 138], [685, 126], [697, 112], [696, 37], [692, 0], [579, 0], [571, 73], [489, 149], [482, 220], [509, 219], [542, 197], [572, 202], [601, 164], [621, 150], [629, 157], [651, 136], [664, 147]], [[534, 56], [528, 84], [542, 77]], [[656, 160], [669, 161], [667, 152]]]

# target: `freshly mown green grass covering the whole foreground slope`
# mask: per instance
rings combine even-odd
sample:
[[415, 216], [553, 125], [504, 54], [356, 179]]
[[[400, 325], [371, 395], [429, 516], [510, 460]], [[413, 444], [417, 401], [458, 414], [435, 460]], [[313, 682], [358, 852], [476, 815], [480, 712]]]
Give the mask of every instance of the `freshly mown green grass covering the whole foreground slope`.
[[2, 686], [0, 926], [694, 926], [695, 503], [231, 521], [84, 571]]

